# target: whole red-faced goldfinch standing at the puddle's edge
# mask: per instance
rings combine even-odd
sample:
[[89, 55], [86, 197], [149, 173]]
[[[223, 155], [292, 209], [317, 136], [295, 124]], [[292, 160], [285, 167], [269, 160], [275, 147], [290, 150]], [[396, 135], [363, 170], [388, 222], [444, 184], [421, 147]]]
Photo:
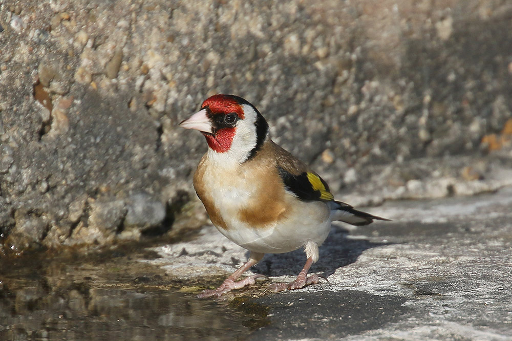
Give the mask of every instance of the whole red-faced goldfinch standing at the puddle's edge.
[[266, 290], [280, 292], [316, 284], [319, 276], [308, 276], [308, 271], [318, 261], [318, 247], [327, 238], [332, 221], [360, 226], [389, 220], [334, 200], [324, 179], [272, 141], [265, 118], [242, 97], [213, 95], [179, 126], [197, 130], [206, 138], [208, 148], [193, 184], [212, 224], [249, 250], [246, 263], [218, 288], [204, 290], [198, 297], [220, 297], [253, 285], [267, 276], [240, 277], [265, 253], [300, 248], [306, 253], [306, 264], [296, 279], [270, 283]]

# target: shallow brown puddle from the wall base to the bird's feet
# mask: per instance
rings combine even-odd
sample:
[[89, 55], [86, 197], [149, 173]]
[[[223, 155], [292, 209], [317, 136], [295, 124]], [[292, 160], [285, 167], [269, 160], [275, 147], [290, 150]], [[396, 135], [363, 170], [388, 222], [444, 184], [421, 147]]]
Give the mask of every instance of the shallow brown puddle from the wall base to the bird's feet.
[[240, 339], [253, 329], [243, 311], [178, 291], [144, 257], [154, 254], [3, 259], [0, 340]]

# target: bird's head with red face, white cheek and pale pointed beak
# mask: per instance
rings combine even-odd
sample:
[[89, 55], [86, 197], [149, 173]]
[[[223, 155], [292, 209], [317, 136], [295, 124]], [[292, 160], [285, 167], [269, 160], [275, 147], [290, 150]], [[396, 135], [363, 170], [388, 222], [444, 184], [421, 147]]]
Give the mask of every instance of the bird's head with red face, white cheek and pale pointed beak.
[[268, 124], [260, 112], [245, 99], [234, 95], [209, 97], [200, 111], [179, 125], [200, 131], [209, 150], [238, 162], [252, 158], [268, 135]]

